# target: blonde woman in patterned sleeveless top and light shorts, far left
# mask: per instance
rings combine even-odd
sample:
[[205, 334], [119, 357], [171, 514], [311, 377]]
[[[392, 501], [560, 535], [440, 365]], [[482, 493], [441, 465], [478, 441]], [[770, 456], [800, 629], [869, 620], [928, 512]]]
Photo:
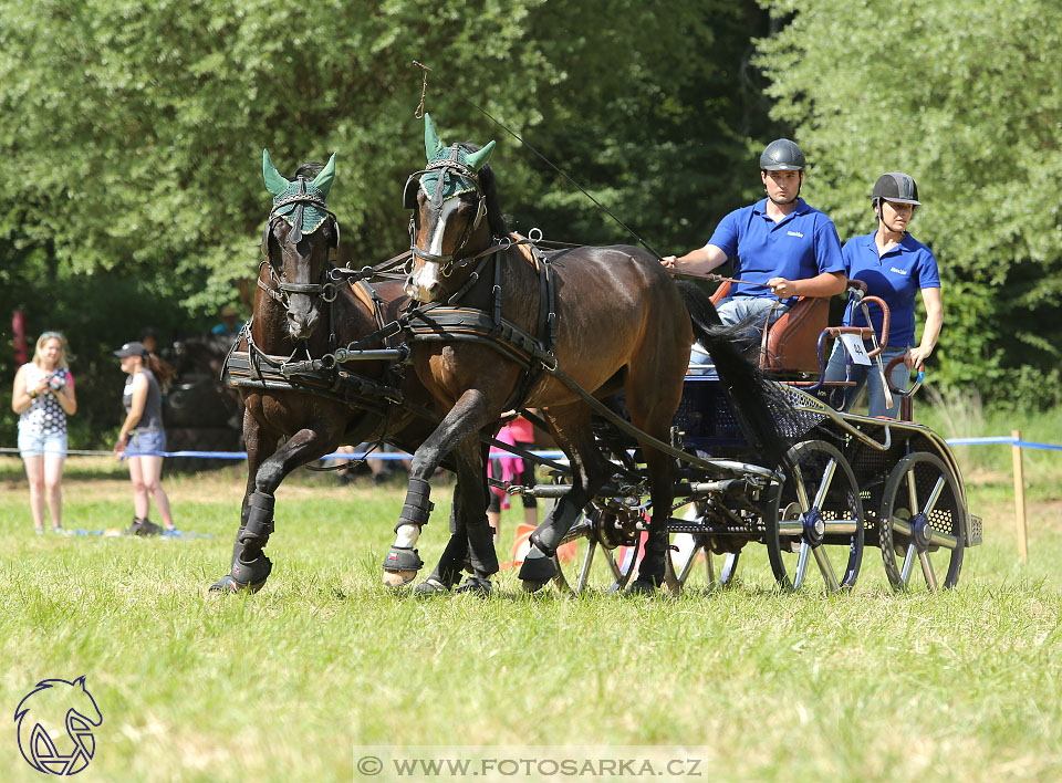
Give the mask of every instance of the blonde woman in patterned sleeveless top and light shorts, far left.
[[66, 417], [77, 411], [69, 364], [66, 338], [59, 332], [44, 332], [37, 340], [33, 361], [14, 375], [11, 409], [19, 414], [19, 452], [30, 482], [30, 509], [38, 534], [44, 532], [45, 505], [52, 530], [63, 530]]

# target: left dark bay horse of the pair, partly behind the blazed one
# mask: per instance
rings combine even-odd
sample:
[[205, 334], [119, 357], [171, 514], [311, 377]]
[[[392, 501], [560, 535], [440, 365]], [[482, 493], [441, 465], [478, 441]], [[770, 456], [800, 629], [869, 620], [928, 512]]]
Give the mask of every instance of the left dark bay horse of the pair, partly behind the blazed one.
[[[374, 301], [331, 275], [339, 223], [325, 199], [335, 174], [334, 155], [325, 166], [303, 164], [290, 180], [277, 171], [268, 152], [262, 159], [273, 207], [262, 239], [253, 316], [227, 362], [230, 378], [239, 376], [242, 382], [248, 480], [231, 571], [210, 587], [221, 592], [254, 592], [264, 584], [272, 570], [263, 550], [273, 532], [274, 493], [292, 470], [343, 443], [387, 438], [412, 449], [436, 426], [402, 406], [388, 405], [384, 396], [394, 383], [404, 399], [429, 401], [415, 376], [392, 377], [379, 361], [356, 363], [357, 377], [364, 383], [355, 383], [355, 376], [346, 373], [347, 383], [336, 386], [334, 373], [321, 372], [322, 357], [337, 346], [372, 337], [361, 347], [382, 347], [382, 340], [375, 337], [379, 321], [374, 311], [383, 307], [383, 321], [394, 321], [408, 297], [399, 281], [375, 286], [378, 301]], [[237, 367], [231, 362], [241, 353], [246, 354], [244, 365]], [[304, 384], [305, 390], [285, 384], [285, 373], [292, 373], [290, 377]], [[287, 440], [279, 446], [282, 438]], [[462, 492], [462, 481], [482, 484], [481, 479], [458, 474], [451, 529], [456, 529], [454, 520], [476, 516], [487, 503], [486, 490], [481, 499]], [[446, 558], [434, 574], [436, 581], [456, 582], [467, 555], [467, 541], [451, 539]], [[421, 565], [415, 549], [404, 551], [403, 556], [394, 571], [409, 573], [410, 564]]]

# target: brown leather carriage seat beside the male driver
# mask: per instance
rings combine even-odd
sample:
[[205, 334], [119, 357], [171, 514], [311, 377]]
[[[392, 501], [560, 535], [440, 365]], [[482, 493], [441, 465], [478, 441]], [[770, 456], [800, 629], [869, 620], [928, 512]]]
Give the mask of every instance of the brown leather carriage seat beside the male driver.
[[[711, 295], [719, 304], [730, 292], [720, 283]], [[830, 325], [830, 300], [799, 296], [793, 305], [763, 332], [760, 369], [771, 373], [819, 374], [819, 335]]]

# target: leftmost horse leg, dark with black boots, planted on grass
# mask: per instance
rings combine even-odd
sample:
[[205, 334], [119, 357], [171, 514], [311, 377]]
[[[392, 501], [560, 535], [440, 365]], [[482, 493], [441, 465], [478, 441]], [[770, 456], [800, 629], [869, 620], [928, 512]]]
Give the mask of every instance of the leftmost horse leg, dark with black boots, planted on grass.
[[275, 453], [262, 461], [254, 473], [254, 491], [244, 501], [247, 519], [237, 534], [232, 570], [211, 585], [211, 589], [226, 593], [249, 589], [257, 593], [262, 588], [273, 570], [272, 562], [264, 553], [273, 532], [273, 493], [292, 470], [334, 450], [337, 438], [333, 434], [342, 431], [342, 427], [335, 425], [315, 421], [295, 432]]

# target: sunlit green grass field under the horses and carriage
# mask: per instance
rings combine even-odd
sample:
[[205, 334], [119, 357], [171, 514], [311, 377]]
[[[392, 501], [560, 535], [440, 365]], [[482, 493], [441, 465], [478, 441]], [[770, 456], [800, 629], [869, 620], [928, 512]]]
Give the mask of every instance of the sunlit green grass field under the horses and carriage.
[[[893, 595], [868, 549], [847, 596], [779, 594], [750, 563], [735, 588], [677, 599], [529, 598], [507, 572], [490, 601], [420, 602], [378, 586], [398, 487], [293, 477], [268, 586], [219, 598], [238, 467], [167, 478], [179, 526], [214, 537], [61, 539], [32, 534], [3, 459], [0, 708], [85, 675], [104, 723], [84, 781], [350, 781], [357, 745], [455, 743], [685, 745], [711, 781], [1059, 781], [1062, 495], [1031, 491], [1019, 564], [1009, 477], [970, 472], [986, 543], [948, 594]], [[124, 526], [129, 486], [71, 460], [64, 509], [67, 529]], [[0, 779], [38, 780], [8, 727]]]

